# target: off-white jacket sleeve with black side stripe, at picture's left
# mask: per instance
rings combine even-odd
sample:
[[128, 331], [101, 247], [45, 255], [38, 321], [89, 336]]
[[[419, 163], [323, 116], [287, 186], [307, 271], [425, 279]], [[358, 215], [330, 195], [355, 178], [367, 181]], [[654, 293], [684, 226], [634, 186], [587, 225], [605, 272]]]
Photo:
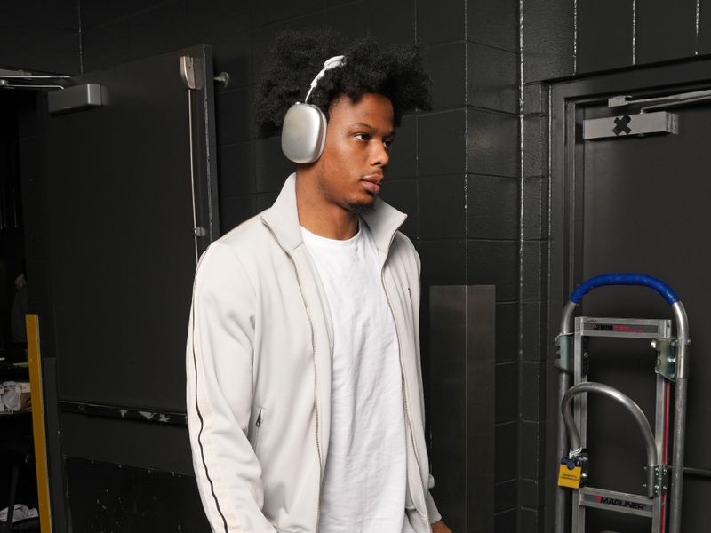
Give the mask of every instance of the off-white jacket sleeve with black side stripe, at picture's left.
[[213, 243], [193, 287], [186, 400], [197, 487], [214, 533], [276, 531], [261, 512], [261, 467], [247, 440], [255, 301], [234, 251]]

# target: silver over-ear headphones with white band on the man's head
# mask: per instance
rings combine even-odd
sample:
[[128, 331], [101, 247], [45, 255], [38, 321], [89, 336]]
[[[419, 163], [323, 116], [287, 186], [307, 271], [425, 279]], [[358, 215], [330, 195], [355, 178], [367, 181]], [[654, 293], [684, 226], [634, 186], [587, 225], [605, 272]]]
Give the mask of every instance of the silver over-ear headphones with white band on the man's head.
[[304, 103], [296, 102], [286, 112], [282, 125], [282, 151], [294, 163], [314, 163], [321, 157], [326, 140], [326, 117], [321, 109], [307, 103], [308, 97], [328, 70], [345, 62], [345, 56], [326, 60], [324, 68], [311, 82]]

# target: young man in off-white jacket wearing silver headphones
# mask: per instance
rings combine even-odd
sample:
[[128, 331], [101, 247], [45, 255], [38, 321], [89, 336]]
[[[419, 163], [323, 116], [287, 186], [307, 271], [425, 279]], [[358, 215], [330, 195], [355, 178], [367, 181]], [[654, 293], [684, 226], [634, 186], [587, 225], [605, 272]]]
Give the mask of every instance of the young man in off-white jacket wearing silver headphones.
[[419, 257], [405, 215], [378, 199], [395, 125], [427, 107], [428, 79], [415, 50], [287, 34], [260, 85], [262, 131], [330, 59], [308, 95], [326, 117], [323, 152], [316, 142], [276, 203], [197, 268], [198, 488], [215, 532], [448, 533], [429, 495]]

